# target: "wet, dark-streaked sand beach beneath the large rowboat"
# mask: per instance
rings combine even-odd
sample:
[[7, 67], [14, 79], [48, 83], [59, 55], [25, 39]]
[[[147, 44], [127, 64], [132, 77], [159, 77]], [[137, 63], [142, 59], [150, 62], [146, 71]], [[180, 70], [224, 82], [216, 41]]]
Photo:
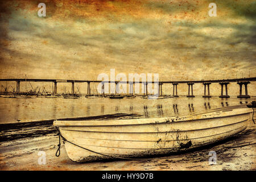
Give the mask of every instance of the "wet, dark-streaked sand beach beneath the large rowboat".
[[[244, 106], [239, 106], [244, 107]], [[224, 109], [224, 108], [222, 108]], [[234, 108], [232, 108], [234, 109]], [[117, 118], [134, 117], [118, 115]], [[27, 127], [24, 127], [27, 126]], [[197, 150], [145, 160], [117, 160], [96, 163], [72, 162], [61, 142], [61, 154], [55, 156], [59, 137], [51, 121], [1, 128], [1, 170], [255, 170], [256, 125], [249, 121], [246, 130], [221, 142]], [[38, 164], [39, 151], [46, 152], [46, 164]], [[217, 154], [217, 164], [209, 165], [209, 151]]]

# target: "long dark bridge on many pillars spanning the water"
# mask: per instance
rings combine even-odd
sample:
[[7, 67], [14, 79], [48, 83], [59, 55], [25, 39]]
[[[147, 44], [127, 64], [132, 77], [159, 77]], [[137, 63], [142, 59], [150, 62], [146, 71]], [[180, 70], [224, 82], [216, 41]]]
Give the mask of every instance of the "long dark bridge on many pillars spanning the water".
[[[15, 81], [16, 82], [16, 93], [20, 93], [20, 82], [52, 82], [54, 84], [53, 87], [53, 94], [57, 94], [57, 83], [59, 82], [70, 82], [72, 84], [72, 94], [75, 93], [75, 83], [81, 83], [86, 82], [88, 84], [87, 86], [87, 94], [90, 95], [90, 83], [98, 82], [102, 83], [102, 94], [104, 94], [104, 83], [115, 83], [115, 85], [122, 83], [122, 84], [129, 84], [131, 94], [133, 94], [133, 84], [144, 84], [144, 94], [148, 94], [148, 82], [145, 81], [100, 81], [100, 80], [57, 80], [57, 79], [31, 79], [31, 78], [6, 78], [6, 79], [0, 79], [0, 81]], [[256, 77], [247, 77], [247, 78], [233, 78], [233, 79], [223, 79], [223, 80], [189, 80], [189, 81], [151, 81], [150, 83], [158, 84], [158, 93], [161, 96], [162, 95], [162, 85], [163, 84], [172, 84], [173, 85], [173, 96], [179, 97], [177, 94], [177, 85], [179, 84], [187, 84], [188, 85], [188, 95], [187, 97], [195, 97], [193, 95], [193, 85], [194, 84], [203, 84], [204, 85], [204, 96], [203, 97], [212, 97], [210, 96], [210, 84], [212, 83], [219, 83], [221, 85], [221, 95], [220, 97], [228, 98], [228, 84], [230, 82], [237, 82], [237, 84], [240, 86], [240, 94], [237, 96], [239, 98], [250, 98], [248, 91], [247, 91], [247, 85], [250, 84], [251, 81], [256, 81]], [[245, 95], [242, 95], [242, 88], [243, 85], [245, 87]], [[225, 94], [224, 94], [224, 86], [225, 86]], [[116, 88], [118, 88], [116, 86]], [[118, 93], [118, 89], [115, 90], [115, 93]]]

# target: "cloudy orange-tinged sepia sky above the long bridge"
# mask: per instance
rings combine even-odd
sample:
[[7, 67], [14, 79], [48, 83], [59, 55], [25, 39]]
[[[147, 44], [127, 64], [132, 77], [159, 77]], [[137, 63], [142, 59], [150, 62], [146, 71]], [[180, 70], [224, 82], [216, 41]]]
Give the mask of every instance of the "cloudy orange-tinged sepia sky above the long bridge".
[[87, 80], [113, 68], [163, 81], [256, 76], [255, 9], [247, 0], [3, 1], [0, 78]]

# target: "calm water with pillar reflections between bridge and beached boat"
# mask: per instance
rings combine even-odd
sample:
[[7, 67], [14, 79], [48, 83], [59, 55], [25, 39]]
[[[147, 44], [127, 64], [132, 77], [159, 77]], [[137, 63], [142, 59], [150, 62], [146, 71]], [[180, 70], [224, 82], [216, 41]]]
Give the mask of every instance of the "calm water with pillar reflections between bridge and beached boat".
[[246, 104], [253, 98], [0, 98], [0, 123], [87, 117], [103, 114], [139, 114], [141, 117], [170, 117], [195, 114], [220, 107]]

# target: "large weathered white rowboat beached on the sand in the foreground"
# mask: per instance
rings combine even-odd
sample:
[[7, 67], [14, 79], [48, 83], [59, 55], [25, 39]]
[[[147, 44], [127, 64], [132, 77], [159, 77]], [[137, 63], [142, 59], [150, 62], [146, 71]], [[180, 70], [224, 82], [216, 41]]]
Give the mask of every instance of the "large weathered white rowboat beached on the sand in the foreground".
[[65, 139], [88, 149], [65, 142], [71, 160], [92, 162], [172, 154], [218, 142], [245, 130], [249, 113], [238, 109], [183, 118], [55, 121], [54, 125]]

